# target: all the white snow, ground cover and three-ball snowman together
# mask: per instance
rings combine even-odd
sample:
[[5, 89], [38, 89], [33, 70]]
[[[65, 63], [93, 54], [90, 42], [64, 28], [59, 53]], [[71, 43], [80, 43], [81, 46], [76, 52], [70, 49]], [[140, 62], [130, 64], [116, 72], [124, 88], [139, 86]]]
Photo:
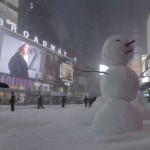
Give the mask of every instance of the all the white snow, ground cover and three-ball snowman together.
[[109, 66], [108, 74], [101, 79], [103, 97], [98, 97], [92, 108], [53, 105], [39, 110], [36, 106], [17, 106], [10, 112], [8, 106], [1, 106], [1, 149], [150, 149], [149, 108], [136, 98], [139, 80], [127, 67], [134, 53], [133, 42], [118, 35], [106, 40], [102, 58]]

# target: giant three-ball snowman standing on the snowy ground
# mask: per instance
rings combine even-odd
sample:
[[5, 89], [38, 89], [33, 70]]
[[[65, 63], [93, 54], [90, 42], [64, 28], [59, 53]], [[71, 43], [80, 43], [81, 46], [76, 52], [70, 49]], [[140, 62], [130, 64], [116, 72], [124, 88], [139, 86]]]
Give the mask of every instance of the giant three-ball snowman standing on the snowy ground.
[[139, 90], [138, 76], [127, 66], [134, 55], [133, 43], [120, 35], [104, 43], [101, 57], [109, 69], [101, 79], [101, 92], [106, 102], [93, 120], [98, 134], [121, 134], [142, 128], [142, 115], [130, 103]]

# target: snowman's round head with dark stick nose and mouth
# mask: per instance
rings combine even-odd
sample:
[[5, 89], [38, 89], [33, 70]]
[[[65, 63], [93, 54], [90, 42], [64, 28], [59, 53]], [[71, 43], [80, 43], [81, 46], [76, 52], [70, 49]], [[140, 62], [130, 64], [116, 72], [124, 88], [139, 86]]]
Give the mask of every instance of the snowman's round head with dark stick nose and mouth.
[[129, 41], [121, 35], [114, 35], [104, 43], [101, 57], [107, 66], [127, 65], [133, 58], [134, 41]]

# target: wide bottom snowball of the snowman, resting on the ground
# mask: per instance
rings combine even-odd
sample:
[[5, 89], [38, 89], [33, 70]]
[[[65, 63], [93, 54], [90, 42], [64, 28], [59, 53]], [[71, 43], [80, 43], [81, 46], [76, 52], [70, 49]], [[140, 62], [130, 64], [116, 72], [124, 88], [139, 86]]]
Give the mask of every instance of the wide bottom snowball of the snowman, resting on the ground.
[[109, 101], [96, 113], [93, 121], [95, 132], [114, 135], [142, 128], [142, 115], [126, 101]]

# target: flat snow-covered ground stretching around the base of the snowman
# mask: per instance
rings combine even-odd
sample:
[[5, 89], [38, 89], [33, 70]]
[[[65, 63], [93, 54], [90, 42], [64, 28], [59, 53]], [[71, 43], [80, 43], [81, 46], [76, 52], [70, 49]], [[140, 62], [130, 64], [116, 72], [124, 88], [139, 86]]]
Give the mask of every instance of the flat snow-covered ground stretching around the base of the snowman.
[[94, 107], [0, 106], [0, 150], [150, 150], [150, 121], [140, 131], [115, 136], [94, 133]]

